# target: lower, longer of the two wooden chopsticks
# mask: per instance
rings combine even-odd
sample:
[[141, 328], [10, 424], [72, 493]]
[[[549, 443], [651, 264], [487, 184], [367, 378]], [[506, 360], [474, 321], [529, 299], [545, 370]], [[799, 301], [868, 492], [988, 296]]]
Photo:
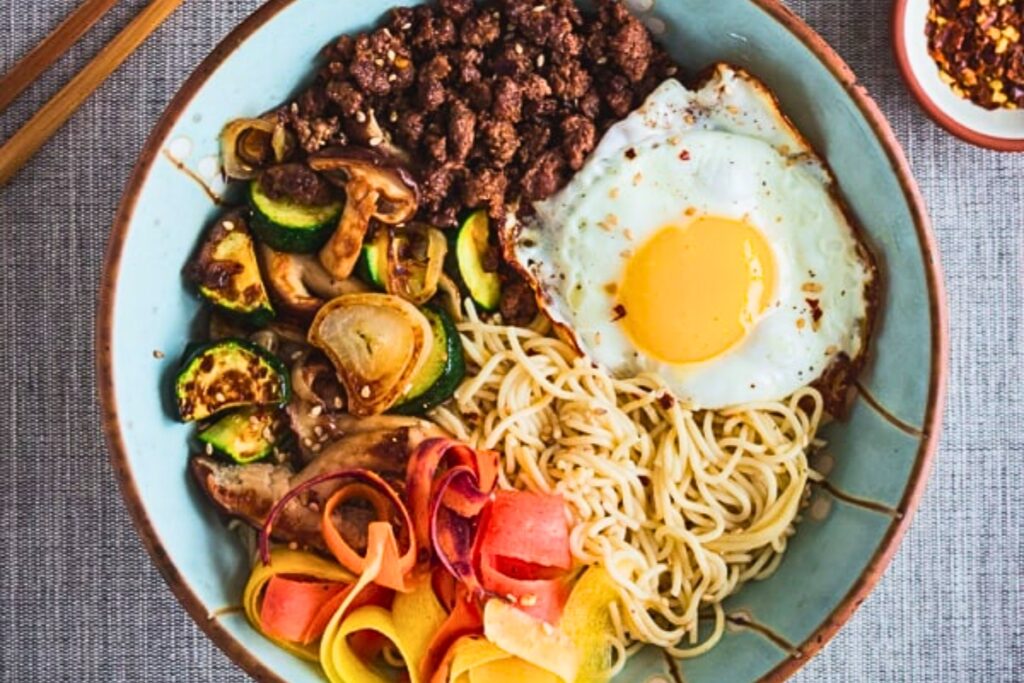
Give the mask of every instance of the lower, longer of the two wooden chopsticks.
[[60, 92], [0, 146], [0, 186], [68, 121], [89, 95], [142, 44], [184, 0], [153, 0]]

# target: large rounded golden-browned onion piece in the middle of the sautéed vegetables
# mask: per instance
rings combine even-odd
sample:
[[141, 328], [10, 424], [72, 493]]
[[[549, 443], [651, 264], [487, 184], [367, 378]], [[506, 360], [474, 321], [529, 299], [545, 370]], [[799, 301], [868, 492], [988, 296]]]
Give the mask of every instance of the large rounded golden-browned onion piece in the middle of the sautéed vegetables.
[[324, 350], [345, 386], [352, 415], [379, 415], [407, 390], [433, 345], [430, 323], [389, 294], [346, 294], [316, 313], [309, 343]]

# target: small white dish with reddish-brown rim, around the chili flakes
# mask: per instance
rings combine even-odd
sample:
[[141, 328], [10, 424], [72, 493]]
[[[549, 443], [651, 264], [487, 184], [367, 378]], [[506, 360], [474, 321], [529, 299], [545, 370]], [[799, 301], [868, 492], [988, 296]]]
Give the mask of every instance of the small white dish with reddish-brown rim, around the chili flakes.
[[893, 2], [893, 50], [910, 92], [953, 135], [989, 150], [1024, 152], [1024, 110], [986, 110], [957, 97], [939, 79], [925, 35], [929, 5], [930, 0]]

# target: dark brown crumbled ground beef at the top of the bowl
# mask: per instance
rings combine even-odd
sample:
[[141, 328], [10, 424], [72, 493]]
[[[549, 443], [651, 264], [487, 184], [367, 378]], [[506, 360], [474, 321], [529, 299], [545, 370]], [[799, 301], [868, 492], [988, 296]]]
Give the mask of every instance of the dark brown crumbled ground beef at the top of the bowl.
[[[527, 213], [676, 71], [617, 0], [598, 0], [592, 14], [574, 0], [437, 0], [328, 45], [315, 82], [279, 118], [307, 154], [353, 143], [408, 155], [418, 219], [452, 227], [471, 209]], [[272, 184], [295, 199], [318, 194], [294, 170]], [[503, 315], [528, 319], [528, 289], [501, 272]]]

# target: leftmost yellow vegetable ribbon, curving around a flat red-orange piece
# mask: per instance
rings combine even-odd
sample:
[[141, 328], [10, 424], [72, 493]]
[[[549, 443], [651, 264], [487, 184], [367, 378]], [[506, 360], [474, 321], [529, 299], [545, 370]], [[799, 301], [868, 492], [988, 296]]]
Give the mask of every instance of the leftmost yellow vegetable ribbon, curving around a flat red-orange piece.
[[351, 584], [355, 577], [350, 571], [341, 567], [337, 562], [324, 559], [318, 555], [306, 553], [288, 548], [274, 548], [270, 551], [270, 564], [257, 562], [246, 584], [246, 590], [242, 594], [242, 604], [246, 610], [246, 616], [253, 628], [262, 633], [275, 645], [285, 648], [292, 654], [316, 661], [318, 652], [315, 644], [298, 645], [281, 638], [267, 635], [263, 632], [260, 623], [260, 600], [267, 583], [275, 575], [300, 575], [315, 579], [317, 581], [336, 582], [339, 584]]

